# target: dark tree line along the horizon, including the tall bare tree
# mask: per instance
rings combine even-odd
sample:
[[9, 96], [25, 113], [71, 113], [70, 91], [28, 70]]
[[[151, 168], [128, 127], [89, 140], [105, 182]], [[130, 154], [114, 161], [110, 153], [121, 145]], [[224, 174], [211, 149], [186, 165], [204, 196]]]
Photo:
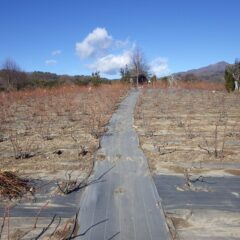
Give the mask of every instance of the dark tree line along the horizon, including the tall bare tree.
[[[131, 64], [120, 69], [120, 80], [124, 83], [138, 85], [145, 82], [163, 81], [168, 82], [169, 76], [157, 78], [156, 75], [149, 73], [149, 66], [144, 54], [136, 49], [131, 57]], [[174, 76], [174, 75], [173, 75]], [[202, 79], [193, 73], [185, 75], [175, 75], [175, 81], [200, 82]], [[239, 90], [240, 88], [240, 60], [236, 59], [234, 64], [226, 66], [225, 88], [228, 92]], [[114, 80], [102, 78], [100, 72], [93, 72], [90, 76], [85, 75], [58, 75], [50, 72], [25, 72], [16, 64], [14, 60], [7, 59], [0, 68], [0, 91], [21, 90], [36, 87], [56, 87], [63, 84], [93, 85], [98, 86], [102, 83], [111, 84]]]

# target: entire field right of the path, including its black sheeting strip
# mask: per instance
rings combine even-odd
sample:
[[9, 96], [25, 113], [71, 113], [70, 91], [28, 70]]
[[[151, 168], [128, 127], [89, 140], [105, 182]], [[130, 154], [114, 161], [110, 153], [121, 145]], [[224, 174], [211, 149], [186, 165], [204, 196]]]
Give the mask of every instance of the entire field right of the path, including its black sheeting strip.
[[174, 239], [239, 236], [240, 95], [214, 89], [145, 88], [135, 109]]

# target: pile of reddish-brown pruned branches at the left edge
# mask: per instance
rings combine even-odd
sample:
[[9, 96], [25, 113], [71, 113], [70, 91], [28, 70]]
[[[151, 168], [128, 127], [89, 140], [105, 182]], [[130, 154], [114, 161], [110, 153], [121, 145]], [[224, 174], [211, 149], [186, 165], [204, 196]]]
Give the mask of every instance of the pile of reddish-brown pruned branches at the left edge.
[[0, 197], [21, 198], [26, 193], [33, 193], [34, 188], [28, 179], [20, 178], [12, 172], [0, 172]]

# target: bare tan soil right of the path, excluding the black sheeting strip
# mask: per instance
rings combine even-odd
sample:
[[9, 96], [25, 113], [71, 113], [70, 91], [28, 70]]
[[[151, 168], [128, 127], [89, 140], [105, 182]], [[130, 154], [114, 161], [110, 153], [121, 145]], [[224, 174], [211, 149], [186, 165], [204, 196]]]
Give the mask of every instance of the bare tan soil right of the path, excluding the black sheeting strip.
[[[225, 91], [143, 89], [135, 109], [135, 128], [152, 174], [181, 176], [186, 184], [177, 190], [193, 192], [192, 179], [238, 178], [239, 102], [239, 93]], [[171, 211], [166, 215], [174, 225], [175, 239], [239, 239], [240, 209], [236, 213], [196, 210], [190, 220], [181, 209], [175, 215]]]

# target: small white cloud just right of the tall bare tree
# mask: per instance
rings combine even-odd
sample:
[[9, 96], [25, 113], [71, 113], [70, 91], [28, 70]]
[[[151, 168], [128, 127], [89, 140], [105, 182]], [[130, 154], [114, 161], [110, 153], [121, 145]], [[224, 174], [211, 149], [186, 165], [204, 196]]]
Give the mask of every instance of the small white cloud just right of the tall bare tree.
[[168, 67], [168, 60], [165, 58], [156, 58], [153, 61], [150, 62], [149, 64], [150, 71], [157, 75], [157, 76], [162, 76], [164, 74], [169, 74], [170, 70]]

